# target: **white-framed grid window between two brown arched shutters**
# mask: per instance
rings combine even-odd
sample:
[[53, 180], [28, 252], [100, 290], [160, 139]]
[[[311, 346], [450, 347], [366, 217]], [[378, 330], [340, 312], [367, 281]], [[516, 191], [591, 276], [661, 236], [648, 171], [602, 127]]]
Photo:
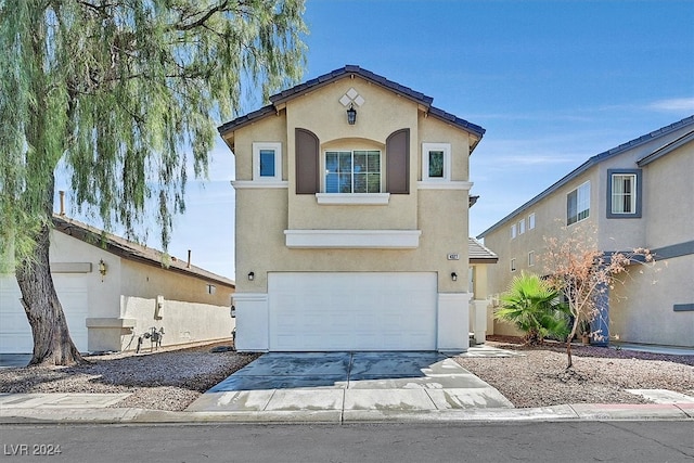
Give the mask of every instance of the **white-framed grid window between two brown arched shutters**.
[[325, 152], [325, 193], [381, 193], [381, 152]]

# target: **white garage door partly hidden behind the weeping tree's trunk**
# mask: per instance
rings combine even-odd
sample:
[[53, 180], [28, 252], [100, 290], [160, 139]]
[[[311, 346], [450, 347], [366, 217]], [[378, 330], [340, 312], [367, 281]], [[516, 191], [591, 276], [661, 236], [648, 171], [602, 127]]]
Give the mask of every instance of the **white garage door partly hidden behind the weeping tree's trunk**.
[[[53, 275], [70, 337], [81, 352], [87, 351], [87, 282], [82, 275]], [[22, 293], [13, 275], [0, 276], [0, 353], [30, 353], [31, 327], [20, 303]]]

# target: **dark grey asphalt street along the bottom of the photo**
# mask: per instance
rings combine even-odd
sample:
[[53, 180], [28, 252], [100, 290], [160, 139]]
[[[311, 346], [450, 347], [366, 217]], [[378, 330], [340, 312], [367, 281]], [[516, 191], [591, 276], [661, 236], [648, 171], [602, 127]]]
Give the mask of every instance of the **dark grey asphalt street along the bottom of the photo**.
[[0, 445], [2, 462], [692, 462], [694, 423], [2, 425]]

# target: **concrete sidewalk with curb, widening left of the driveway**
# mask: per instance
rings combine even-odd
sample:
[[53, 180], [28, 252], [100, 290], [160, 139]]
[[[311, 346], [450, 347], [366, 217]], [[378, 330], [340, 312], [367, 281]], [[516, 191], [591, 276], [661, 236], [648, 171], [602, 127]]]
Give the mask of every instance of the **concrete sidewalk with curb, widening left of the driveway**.
[[577, 403], [535, 409], [473, 408], [447, 410], [265, 410], [183, 411], [111, 408], [121, 394], [3, 394], [0, 424], [164, 424], [164, 423], [441, 423], [523, 421], [692, 420], [692, 402], [653, 404]]

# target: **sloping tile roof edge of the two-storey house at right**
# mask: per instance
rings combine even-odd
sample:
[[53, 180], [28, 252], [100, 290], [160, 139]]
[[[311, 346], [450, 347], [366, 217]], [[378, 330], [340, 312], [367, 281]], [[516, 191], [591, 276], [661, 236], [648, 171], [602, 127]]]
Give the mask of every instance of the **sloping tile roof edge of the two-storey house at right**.
[[[596, 154], [596, 155], [592, 156], [587, 162], [584, 162], [583, 164], [578, 166], [576, 169], [571, 170], [569, 173], [564, 176], [557, 182], [552, 184], [550, 188], [544, 190], [542, 193], [538, 194], [532, 200], [528, 201], [527, 203], [525, 203], [524, 205], [522, 205], [520, 207], [515, 209], [513, 213], [509, 214], [506, 217], [504, 217], [503, 219], [499, 220], [497, 223], [494, 223], [493, 226], [489, 227], [487, 230], [485, 230], [484, 232], [478, 234], [477, 237], [484, 237], [489, 232], [491, 232], [493, 230], [497, 230], [498, 228], [502, 227], [512, 217], [518, 215], [523, 210], [525, 210], [525, 209], [531, 207], [532, 205], [539, 203], [541, 200], [543, 200], [547, 196], [549, 196], [550, 194], [554, 193], [556, 190], [558, 190], [560, 188], [564, 187], [566, 183], [570, 182], [571, 180], [576, 179], [577, 177], [581, 176], [588, 169], [590, 169], [591, 167], [602, 163], [603, 160], [609, 159], [609, 158], [612, 158], [612, 157], [614, 157], [614, 156], [616, 156], [618, 154], [621, 154], [621, 153], [624, 153], [624, 152], [626, 152], [628, 150], [631, 150], [631, 149], [637, 147], [639, 145], [645, 144], [645, 143], [647, 143], [650, 141], [658, 139], [659, 137], [667, 136], [668, 133], [672, 133], [676, 130], [682, 129], [682, 128], [684, 128], [686, 126], [691, 126], [691, 125], [694, 125], [694, 115], [685, 117], [684, 119], [678, 120], [677, 123], [670, 124], [668, 126], [660, 127], [657, 130], [654, 130], [654, 131], [648, 132], [648, 133], [646, 133], [644, 136], [641, 136], [639, 138], [630, 140], [630, 141], [628, 141], [626, 143], [622, 143], [622, 144], [620, 144], [618, 146], [615, 146], [615, 147], [613, 147], [611, 150], [604, 151], [604, 152], [602, 152], [600, 154]], [[686, 138], [686, 137], [687, 136], [684, 136], [682, 138]], [[646, 157], [648, 157], [648, 156], [646, 156]], [[643, 159], [641, 159], [640, 162], [642, 162], [642, 160]]]

